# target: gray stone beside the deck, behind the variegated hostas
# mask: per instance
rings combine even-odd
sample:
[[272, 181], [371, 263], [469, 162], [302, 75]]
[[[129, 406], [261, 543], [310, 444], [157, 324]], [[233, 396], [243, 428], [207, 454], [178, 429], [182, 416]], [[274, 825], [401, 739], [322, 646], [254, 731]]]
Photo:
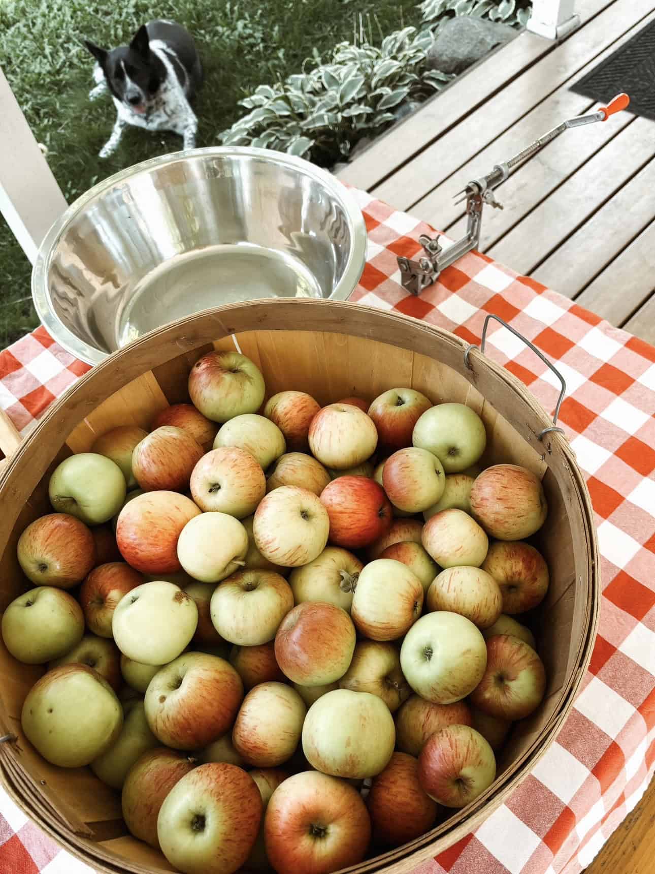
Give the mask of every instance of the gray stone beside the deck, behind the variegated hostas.
[[427, 53], [431, 70], [463, 73], [469, 66], [516, 36], [509, 24], [485, 18], [460, 16], [442, 24]]

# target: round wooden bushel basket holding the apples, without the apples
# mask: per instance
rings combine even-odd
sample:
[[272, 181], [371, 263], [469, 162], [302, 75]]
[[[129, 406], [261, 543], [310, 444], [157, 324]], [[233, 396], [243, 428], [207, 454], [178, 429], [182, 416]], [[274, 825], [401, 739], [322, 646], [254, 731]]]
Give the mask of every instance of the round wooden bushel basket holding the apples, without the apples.
[[[447, 849], [525, 780], [569, 713], [590, 661], [599, 608], [598, 555], [590, 498], [562, 434], [539, 434], [552, 421], [508, 371], [447, 331], [390, 312], [316, 300], [231, 304], [144, 336], [80, 378], [45, 413], [0, 475], [0, 611], [31, 584], [17, 563], [17, 539], [52, 511], [47, 482], [71, 452], [119, 424], [148, 427], [169, 403], [188, 400], [192, 364], [213, 347], [235, 343], [264, 373], [267, 397], [284, 389], [318, 402], [373, 399], [410, 386], [433, 402], [460, 401], [486, 425], [485, 464], [514, 462], [542, 477], [548, 519], [535, 538], [551, 574], [546, 600], [530, 625], [548, 673], [541, 707], [514, 726], [485, 794], [431, 832], [348, 871], [408, 872]], [[20, 713], [41, 666], [15, 661], [0, 644], [0, 778], [24, 812], [59, 844], [103, 874], [173, 871], [164, 857], [127, 834], [120, 794], [89, 768], [54, 767], [24, 738]], [[299, 872], [300, 874], [300, 872]]]

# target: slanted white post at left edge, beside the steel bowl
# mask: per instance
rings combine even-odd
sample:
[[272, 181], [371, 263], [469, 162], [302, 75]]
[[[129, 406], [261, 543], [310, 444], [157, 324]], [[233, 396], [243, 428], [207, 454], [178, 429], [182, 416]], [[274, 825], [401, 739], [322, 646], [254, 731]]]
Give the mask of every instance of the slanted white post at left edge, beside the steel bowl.
[[45, 232], [66, 206], [0, 68], [0, 213], [32, 263]]

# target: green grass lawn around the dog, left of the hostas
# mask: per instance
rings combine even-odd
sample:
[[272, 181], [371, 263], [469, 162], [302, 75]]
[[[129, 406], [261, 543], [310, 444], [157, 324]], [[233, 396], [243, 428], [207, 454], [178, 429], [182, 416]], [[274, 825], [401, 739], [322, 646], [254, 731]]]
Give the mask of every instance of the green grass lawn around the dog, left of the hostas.
[[[404, 7], [397, 0], [105, 0], [101, 6], [90, 0], [0, 0], [0, 66], [38, 142], [47, 146], [69, 202], [117, 170], [181, 148], [176, 135], [128, 128], [114, 156], [100, 160], [115, 113], [108, 96], [88, 100], [93, 58], [80, 38], [111, 48], [153, 17], [187, 27], [205, 70], [196, 101], [197, 144], [203, 146], [217, 143], [218, 134], [245, 113], [237, 106], [245, 92], [300, 72], [314, 46], [327, 53], [351, 39], [354, 16], [367, 21], [375, 15], [385, 35], [420, 19], [415, 0]], [[0, 218], [0, 349], [37, 324], [30, 264]]]

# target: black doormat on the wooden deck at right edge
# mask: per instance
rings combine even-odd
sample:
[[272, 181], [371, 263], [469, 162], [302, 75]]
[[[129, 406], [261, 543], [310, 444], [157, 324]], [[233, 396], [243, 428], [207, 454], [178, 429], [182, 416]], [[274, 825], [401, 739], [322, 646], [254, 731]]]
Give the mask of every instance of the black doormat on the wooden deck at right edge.
[[594, 67], [571, 91], [603, 103], [624, 91], [630, 96], [629, 112], [655, 121], [655, 22]]

